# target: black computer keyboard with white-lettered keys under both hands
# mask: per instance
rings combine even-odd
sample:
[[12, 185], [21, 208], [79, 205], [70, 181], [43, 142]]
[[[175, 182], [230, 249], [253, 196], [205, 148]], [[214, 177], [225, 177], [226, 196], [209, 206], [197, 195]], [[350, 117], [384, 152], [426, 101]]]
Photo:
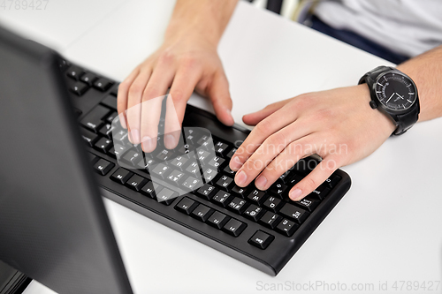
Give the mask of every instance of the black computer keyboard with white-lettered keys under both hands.
[[290, 187], [319, 162], [310, 156], [268, 191], [253, 182], [240, 188], [228, 162], [249, 131], [191, 105], [178, 147], [165, 148], [159, 135], [156, 150], [143, 153], [115, 123], [118, 83], [67, 61], [60, 67], [103, 196], [269, 275], [278, 275], [350, 187], [336, 170], [303, 200], [290, 200]]

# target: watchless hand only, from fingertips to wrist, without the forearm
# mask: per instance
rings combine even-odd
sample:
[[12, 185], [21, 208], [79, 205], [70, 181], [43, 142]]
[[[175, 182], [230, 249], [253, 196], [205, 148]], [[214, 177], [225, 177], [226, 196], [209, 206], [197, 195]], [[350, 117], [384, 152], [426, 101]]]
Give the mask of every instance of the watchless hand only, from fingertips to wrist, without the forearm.
[[[128, 128], [131, 142], [141, 143], [144, 152], [156, 148], [161, 101], [152, 98], [166, 94], [169, 87], [165, 147], [177, 146], [180, 132], [176, 131], [180, 130], [187, 101], [194, 89], [210, 98], [217, 118], [223, 124], [233, 124], [232, 100], [217, 55], [217, 41], [204, 38], [194, 30], [174, 31], [166, 34], [161, 48], [138, 65], [118, 87], [120, 121], [124, 128]], [[170, 102], [173, 102], [174, 110], [169, 107]]]

